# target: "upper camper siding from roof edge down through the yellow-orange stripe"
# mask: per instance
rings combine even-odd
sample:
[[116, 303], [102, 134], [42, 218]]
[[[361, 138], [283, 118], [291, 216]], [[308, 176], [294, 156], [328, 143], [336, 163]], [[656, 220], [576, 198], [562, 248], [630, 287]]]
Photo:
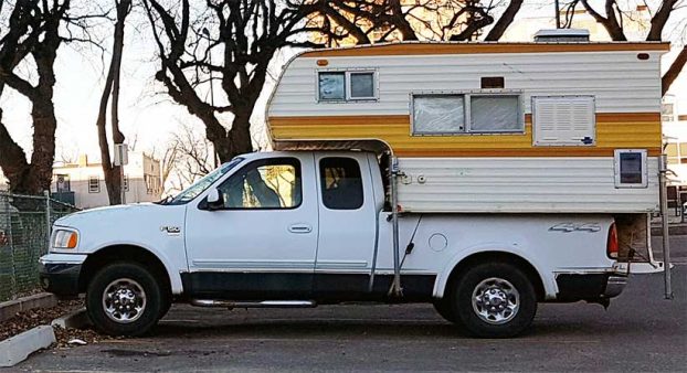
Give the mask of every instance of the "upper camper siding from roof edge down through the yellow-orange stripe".
[[[294, 58], [268, 106], [273, 139], [380, 138], [400, 157], [589, 157], [611, 156], [619, 147], [648, 149], [651, 156], [659, 153], [659, 56], [665, 44], [552, 44], [567, 46], [570, 52], [541, 53], [536, 51], [550, 45], [429, 44], [438, 51], [442, 45], [455, 46], [455, 54], [429, 55], [412, 54], [427, 44], [401, 45], [406, 47], [406, 55], [385, 54], [383, 47], [361, 47], [309, 52]], [[494, 45], [505, 49], [498, 53], [475, 52]], [[586, 51], [589, 45], [595, 49]], [[598, 51], [619, 45], [627, 50]], [[471, 53], [462, 54], [466, 47]], [[376, 50], [379, 53], [370, 55]], [[648, 54], [648, 60], [640, 60], [638, 53]], [[327, 66], [318, 66], [318, 61], [326, 61]], [[317, 103], [317, 72], [345, 68], [376, 70], [379, 99]], [[521, 92], [525, 134], [411, 135], [412, 93], [484, 92], [483, 76], [503, 76], [505, 89]], [[532, 146], [531, 97], [556, 95], [595, 97], [596, 147]]]

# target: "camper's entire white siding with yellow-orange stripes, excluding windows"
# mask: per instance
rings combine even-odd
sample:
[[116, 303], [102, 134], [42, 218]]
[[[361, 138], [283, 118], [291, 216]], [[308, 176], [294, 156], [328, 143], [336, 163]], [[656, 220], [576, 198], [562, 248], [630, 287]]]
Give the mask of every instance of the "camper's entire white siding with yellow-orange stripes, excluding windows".
[[[657, 43], [415, 43], [308, 52], [285, 68], [268, 122], [277, 145], [384, 140], [408, 175], [399, 185], [405, 211], [651, 212], [658, 202], [659, 57], [666, 49]], [[640, 53], [648, 60], [640, 60]], [[323, 61], [327, 66], [318, 66]], [[378, 72], [379, 99], [317, 103], [317, 72], [351, 68]], [[506, 89], [521, 92], [524, 134], [412, 136], [412, 93], [480, 90], [482, 76], [504, 76]], [[531, 97], [558, 95], [594, 96], [594, 146], [532, 143]], [[647, 150], [647, 188], [615, 188], [613, 152], [621, 148]]]

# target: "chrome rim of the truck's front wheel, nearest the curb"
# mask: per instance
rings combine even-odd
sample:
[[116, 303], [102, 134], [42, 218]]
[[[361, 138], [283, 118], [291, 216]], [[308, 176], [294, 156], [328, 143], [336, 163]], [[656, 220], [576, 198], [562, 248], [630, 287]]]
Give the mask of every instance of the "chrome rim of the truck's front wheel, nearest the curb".
[[130, 278], [116, 279], [105, 287], [103, 309], [115, 322], [134, 322], [146, 309], [146, 291], [140, 284]]

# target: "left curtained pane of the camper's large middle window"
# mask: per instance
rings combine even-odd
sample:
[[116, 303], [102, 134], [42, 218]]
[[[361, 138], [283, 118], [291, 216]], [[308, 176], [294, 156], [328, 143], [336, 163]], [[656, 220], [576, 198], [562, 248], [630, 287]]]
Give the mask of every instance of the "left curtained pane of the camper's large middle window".
[[413, 96], [413, 132], [455, 134], [465, 130], [463, 95]]

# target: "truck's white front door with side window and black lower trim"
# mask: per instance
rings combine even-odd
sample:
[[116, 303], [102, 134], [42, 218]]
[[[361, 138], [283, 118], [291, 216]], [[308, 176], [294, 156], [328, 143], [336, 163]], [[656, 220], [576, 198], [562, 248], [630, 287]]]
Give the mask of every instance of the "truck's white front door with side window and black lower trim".
[[247, 160], [219, 184], [223, 209], [190, 204], [184, 291], [255, 300], [309, 296], [318, 232], [314, 169], [307, 152]]

